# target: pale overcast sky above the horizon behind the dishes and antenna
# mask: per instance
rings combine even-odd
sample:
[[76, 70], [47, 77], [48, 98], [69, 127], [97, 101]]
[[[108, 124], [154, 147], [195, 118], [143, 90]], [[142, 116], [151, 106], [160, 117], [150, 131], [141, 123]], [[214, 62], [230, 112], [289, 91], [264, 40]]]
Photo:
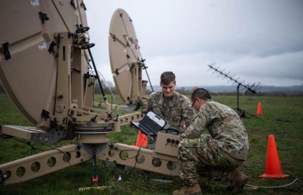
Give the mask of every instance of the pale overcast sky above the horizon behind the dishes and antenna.
[[[98, 71], [114, 84], [108, 36], [117, 8], [131, 19], [152, 85], [173, 71], [178, 86], [303, 84], [303, 0], [85, 0]], [[147, 80], [145, 72], [143, 78]]]

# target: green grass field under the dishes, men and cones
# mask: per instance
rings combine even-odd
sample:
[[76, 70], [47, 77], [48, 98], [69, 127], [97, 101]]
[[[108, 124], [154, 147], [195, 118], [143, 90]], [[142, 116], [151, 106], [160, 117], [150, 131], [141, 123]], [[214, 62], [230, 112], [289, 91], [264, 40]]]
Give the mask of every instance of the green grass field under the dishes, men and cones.
[[[121, 100], [117, 98], [117, 103]], [[95, 99], [100, 99], [96, 96]], [[214, 96], [215, 101], [236, 108], [235, 96]], [[296, 178], [303, 181], [303, 97], [240, 97], [240, 108], [255, 114], [258, 101], [262, 102], [263, 115], [243, 118], [249, 136], [249, 153], [246, 163], [241, 167], [250, 178], [250, 185], [282, 186]], [[5, 94], [0, 94], [0, 124], [28, 126], [28, 122], [18, 113]], [[289, 175], [285, 179], [261, 179], [258, 176], [265, 173], [265, 158], [268, 135], [274, 135], [283, 173]], [[111, 133], [110, 140], [134, 144], [136, 132], [124, 127], [121, 133]], [[62, 141], [52, 147], [70, 144], [72, 141]], [[50, 148], [36, 144], [36, 148]], [[24, 156], [30, 147], [13, 138], [0, 140], [0, 164]], [[27, 153], [25, 156], [28, 156]], [[80, 187], [90, 187], [93, 174], [93, 162], [87, 161], [46, 176], [41, 176], [20, 184], [0, 186], [0, 195], [170, 195], [182, 185], [179, 177], [163, 176], [146, 173], [137, 169], [116, 166], [98, 161], [99, 185], [109, 186], [100, 190], [79, 192]], [[118, 176], [122, 181], [118, 182]], [[172, 183], [157, 183], [152, 179], [170, 179]], [[227, 183], [199, 180], [204, 195], [233, 194], [225, 190]], [[258, 188], [254, 191], [243, 191], [238, 195], [300, 195], [303, 194], [303, 183], [297, 181], [281, 188]]]

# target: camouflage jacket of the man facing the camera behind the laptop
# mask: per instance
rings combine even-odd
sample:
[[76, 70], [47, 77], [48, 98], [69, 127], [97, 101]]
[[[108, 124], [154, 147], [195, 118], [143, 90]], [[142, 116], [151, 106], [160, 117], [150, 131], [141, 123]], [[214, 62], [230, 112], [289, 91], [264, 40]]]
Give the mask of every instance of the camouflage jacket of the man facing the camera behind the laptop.
[[167, 102], [163, 92], [153, 92], [147, 103], [147, 111], [152, 111], [167, 121], [164, 129], [172, 128], [180, 132], [185, 130], [183, 125], [188, 126], [194, 116], [189, 98], [174, 92], [172, 100]]

